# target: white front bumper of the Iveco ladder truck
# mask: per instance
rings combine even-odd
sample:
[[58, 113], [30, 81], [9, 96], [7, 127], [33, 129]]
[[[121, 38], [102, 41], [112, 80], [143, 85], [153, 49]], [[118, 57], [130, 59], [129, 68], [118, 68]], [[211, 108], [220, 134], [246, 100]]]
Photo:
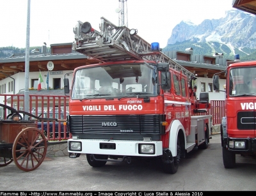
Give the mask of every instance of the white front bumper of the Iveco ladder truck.
[[[79, 150], [72, 150], [72, 142], [78, 142], [81, 148]], [[142, 144], [153, 145], [154, 151], [152, 153], [141, 153]], [[118, 156], [161, 156], [163, 155], [163, 144], [162, 141], [155, 140], [68, 139], [68, 153]]]

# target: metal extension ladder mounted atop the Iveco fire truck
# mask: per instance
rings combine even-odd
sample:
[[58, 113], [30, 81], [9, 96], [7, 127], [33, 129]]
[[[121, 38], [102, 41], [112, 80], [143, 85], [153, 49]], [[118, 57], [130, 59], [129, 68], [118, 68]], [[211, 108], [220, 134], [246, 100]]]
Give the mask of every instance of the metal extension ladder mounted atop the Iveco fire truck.
[[138, 34], [130, 34], [126, 26], [118, 27], [101, 17], [100, 32], [89, 22], [78, 21], [74, 28], [75, 41], [72, 49], [102, 62], [122, 60], [149, 60], [169, 63], [174, 70], [184, 73], [189, 79], [195, 75], [173, 61], [163, 52], [151, 52], [151, 44]]

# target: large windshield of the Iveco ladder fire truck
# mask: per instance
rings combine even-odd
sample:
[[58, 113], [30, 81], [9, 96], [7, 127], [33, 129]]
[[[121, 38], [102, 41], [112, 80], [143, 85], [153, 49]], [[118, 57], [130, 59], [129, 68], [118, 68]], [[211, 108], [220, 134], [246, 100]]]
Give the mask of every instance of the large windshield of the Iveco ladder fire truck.
[[156, 83], [156, 66], [148, 63], [84, 68], [74, 75], [71, 98], [120, 98], [134, 93], [154, 96]]

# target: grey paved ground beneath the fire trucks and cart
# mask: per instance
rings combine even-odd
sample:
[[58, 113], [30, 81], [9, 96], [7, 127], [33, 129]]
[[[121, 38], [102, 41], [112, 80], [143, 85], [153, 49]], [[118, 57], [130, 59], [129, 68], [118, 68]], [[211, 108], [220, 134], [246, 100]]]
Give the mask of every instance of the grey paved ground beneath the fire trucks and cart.
[[38, 169], [24, 172], [11, 163], [0, 167], [0, 191], [246, 191], [256, 190], [256, 162], [237, 156], [236, 169], [225, 169], [220, 135], [205, 150], [191, 151], [176, 174], [161, 162], [109, 162], [92, 168], [85, 156], [45, 158]]

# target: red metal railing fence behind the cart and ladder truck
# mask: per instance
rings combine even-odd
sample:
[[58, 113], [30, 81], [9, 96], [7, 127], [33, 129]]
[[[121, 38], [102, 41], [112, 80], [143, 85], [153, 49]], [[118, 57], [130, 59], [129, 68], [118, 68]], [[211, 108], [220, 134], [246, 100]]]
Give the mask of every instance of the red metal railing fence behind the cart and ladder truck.
[[[24, 94], [0, 94], [0, 96], [4, 98], [3, 104], [13, 107], [16, 110], [24, 110]], [[44, 129], [42, 128], [42, 130], [45, 131], [45, 136], [47, 137], [47, 140], [66, 140], [71, 137], [71, 135], [67, 133], [67, 127], [63, 126], [63, 120], [65, 120], [66, 114], [68, 113], [68, 98], [68, 96], [29, 95], [30, 114], [38, 116], [40, 115], [40, 112], [44, 110], [49, 111], [51, 109], [54, 109], [54, 111], [52, 111], [53, 113], [58, 112], [59, 115], [60, 111], [64, 113], [63, 118], [60, 118], [62, 121], [36, 121], [36, 124], [38, 126], [44, 127]], [[42, 105], [47, 105], [47, 107], [44, 108], [42, 107]], [[8, 111], [7, 109], [2, 111], [2, 119], [6, 119], [6, 117], [8, 116], [8, 112], [10, 111]], [[46, 114], [47, 116], [45, 117], [49, 118], [49, 112], [47, 112]], [[225, 101], [212, 100], [211, 109], [209, 110], [209, 112], [199, 113], [196, 115], [204, 114], [212, 115], [213, 125], [220, 124], [221, 118], [225, 114]]]

